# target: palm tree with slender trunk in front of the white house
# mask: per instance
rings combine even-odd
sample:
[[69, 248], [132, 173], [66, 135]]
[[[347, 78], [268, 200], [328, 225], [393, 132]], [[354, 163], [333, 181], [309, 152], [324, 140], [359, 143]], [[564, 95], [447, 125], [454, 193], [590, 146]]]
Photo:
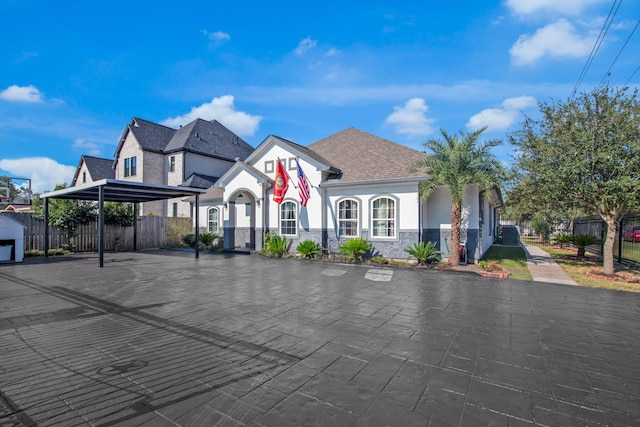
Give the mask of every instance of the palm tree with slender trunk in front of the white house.
[[432, 138], [424, 147], [430, 151], [423, 160], [411, 167], [412, 170], [424, 170], [430, 176], [418, 187], [420, 200], [426, 201], [433, 191], [441, 186], [451, 190], [451, 250], [449, 262], [460, 262], [460, 226], [462, 224], [462, 200], [466, 186], [475, 184], [482, 190], [499, 186], [504, 179], [505, 169], [502, 163], [490, 152], [492, 147], [502, 144], [501, 140], [489, 140], [479, 143], [478, 139], [486, 127], [475, 132], [460, 131], [460, 135], [449, 135], [440, 129], [443, 139]]

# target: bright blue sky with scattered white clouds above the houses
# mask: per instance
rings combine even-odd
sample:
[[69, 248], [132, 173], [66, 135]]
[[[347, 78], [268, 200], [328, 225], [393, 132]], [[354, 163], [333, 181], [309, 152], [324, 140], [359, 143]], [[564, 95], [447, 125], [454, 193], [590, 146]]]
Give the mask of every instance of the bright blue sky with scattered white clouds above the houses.
[[351, 126], [416, 149], [440, 128], [506, 140], [571, 95], [612, 9], [579, 92], [640, 86], [640, 2], [0, 0], [0, 174], [69, 183], [132, 117], [217, 119], [254, 147]]

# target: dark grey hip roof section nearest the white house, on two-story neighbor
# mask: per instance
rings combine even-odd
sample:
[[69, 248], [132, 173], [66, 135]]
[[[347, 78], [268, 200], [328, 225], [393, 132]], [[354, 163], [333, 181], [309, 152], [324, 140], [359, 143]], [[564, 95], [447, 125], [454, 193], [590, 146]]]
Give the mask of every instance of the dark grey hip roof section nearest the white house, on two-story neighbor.
[[217, 120], [196, 119], [176, 130], [164, 152], [190, 151], [227, 160], [244, 160], [253, 147]]

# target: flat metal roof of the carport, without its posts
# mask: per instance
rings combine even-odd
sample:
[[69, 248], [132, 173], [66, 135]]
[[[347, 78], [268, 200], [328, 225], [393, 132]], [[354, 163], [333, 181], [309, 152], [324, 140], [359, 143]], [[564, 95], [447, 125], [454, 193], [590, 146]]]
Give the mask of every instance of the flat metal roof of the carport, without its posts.
[[171, 187], [168, 185], [146, 184], [143, 182], [101, 179], [89, 184], [51, 191], [42, 198], [99, 200], [100, 187], [104, 191], [105, 202], [142, 203], [154, 200], [188, 197], [206, 192], [206, 189], [192, 187]]

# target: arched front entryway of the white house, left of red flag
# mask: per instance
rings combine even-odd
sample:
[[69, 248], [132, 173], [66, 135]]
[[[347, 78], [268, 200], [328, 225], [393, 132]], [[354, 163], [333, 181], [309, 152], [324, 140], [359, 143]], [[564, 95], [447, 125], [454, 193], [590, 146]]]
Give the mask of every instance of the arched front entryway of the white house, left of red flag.
[[226, 250], [255, 250], [256, 197], [249, 190], [238, 190], [225, 203], [228, 221], [224, 230]]

